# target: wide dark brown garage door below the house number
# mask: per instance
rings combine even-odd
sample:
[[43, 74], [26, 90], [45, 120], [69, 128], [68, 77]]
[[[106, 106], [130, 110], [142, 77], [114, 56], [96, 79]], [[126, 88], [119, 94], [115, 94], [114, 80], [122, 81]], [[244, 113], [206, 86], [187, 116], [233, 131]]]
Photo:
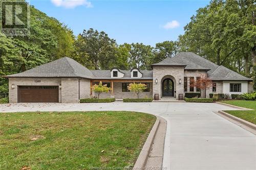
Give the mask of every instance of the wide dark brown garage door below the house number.
[[19, 103], [58, 103], [58, 86], [18, 86]]

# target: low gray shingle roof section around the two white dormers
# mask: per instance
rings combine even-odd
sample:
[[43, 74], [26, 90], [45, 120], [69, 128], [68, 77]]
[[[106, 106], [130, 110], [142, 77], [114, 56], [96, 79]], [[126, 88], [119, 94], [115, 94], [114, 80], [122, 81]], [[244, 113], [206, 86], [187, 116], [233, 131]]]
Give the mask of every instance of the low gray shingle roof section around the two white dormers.
[[[94, 78], [93, 79], [111, 79], [111, 70], [91, 70]], [[134, 80], [134, 79], [153, 79], [152, 70], [140, 70], [142, 78], [131, 78], [131, 70], [122, 70], [124, 76], [118, 79]]]

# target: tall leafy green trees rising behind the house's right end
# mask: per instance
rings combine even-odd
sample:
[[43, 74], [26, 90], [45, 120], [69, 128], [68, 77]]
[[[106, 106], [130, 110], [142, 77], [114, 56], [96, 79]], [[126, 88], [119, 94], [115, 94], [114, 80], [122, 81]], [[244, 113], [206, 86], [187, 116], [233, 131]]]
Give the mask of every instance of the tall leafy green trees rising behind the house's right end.
[[184, 35], [179, 36], [179, 49], [254, 77], [255, 11], [255, 1], [252, 0], [210, 1], [209, 5], [198, 9], [184, 27]]

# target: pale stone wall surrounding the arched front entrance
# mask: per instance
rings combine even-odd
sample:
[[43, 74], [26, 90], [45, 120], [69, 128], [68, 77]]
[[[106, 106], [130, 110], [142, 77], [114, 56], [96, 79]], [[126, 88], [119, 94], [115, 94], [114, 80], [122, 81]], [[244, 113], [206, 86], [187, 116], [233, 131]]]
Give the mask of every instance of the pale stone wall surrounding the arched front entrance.
[[[184, 67], [183, 66], [154, 66], [153, 67], [153, 96], [159, 94], [162, 98], [162, 81], [167, 77], [173, 77], [175, 82], [176, 99], [178, 99], [177, 94], [184, 93]], [[156, 79], [158, 82], [156, 83]], [[181, 79], [181, 84], [179, 80]]]

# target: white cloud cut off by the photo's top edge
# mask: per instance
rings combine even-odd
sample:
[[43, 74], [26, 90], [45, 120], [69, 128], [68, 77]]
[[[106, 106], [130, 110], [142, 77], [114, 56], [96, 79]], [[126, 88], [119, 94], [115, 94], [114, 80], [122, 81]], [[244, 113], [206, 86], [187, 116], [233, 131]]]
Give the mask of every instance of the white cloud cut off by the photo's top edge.
[[88, 0], [51, 0], [51, 2], [57, 7], [75, 8], [77, 6], [86, 6], [92, 8], [92, 3]]

